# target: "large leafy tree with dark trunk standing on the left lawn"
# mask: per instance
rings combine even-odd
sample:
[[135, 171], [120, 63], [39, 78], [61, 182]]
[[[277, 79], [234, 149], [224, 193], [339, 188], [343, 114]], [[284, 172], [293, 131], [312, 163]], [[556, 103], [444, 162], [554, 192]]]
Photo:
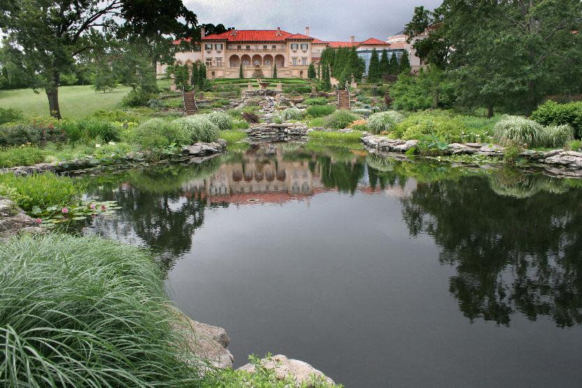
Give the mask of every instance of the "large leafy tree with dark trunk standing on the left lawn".
[[61, 75], [71, 72], [80, 54], [115, 36], [185, 37], [196, 15], [182, 0], [14, 0], [0, 2], [0, 25], [10, 50], [22, 53], [22, 68], [35, 75], [31, 86], [44, 89], [50, 114], [60, 119]]

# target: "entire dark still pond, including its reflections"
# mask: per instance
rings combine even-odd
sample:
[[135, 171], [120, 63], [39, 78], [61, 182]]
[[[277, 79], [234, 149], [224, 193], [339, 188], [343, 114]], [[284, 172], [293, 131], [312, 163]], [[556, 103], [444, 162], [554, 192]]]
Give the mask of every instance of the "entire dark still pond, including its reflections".
[[173, 299], [347, 387], [580, 387], [582, 182], [255, 148], [89, 179]]

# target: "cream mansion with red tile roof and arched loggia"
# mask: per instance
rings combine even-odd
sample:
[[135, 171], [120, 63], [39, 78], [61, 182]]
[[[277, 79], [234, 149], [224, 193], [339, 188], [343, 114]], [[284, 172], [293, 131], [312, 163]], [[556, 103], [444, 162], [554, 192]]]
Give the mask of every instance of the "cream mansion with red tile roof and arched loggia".
[[[407, 47], [398, 41], [384, 41], [369, 38], [356, 41], [351, 36], [347, 41], [326, 42], [310, 36], [310, 28], [305, 33], [289, 33], [280, 27], [271, 30], [236, 30], [213, 33], [205, 36], [204, 29], [201, 45], [190, 51], [175, 54], [177, 64], [189, 65], [201, 63], [206, 65], [206, 76], [215, 78], [238, 78], [240, 66], [245, 78], [272, 78], [277, 66], [279, 78], [307, 78], [310, 64], [319, 63], [321, 52], [326, 47], [355, 47], [359, 57], [370, 63], [372, 50], [388, 51], [388, 57], [395, 53], [400, 59]], [[180, 44], [176, 40], [175, 44]], [[163, 75], [167, 65], [158, 64], [157, 73]]]

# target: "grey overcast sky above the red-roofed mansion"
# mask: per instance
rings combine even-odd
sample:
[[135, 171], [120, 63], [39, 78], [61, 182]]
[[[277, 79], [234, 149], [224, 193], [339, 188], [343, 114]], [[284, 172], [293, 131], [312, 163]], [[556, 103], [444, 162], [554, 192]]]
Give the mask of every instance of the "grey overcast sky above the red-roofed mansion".
[[321, 40], [386, 40], [402, 31], [415, 6], [433, 9], [442, 0], [184, 0], [199, 23], [236, 29], [276, 29]]

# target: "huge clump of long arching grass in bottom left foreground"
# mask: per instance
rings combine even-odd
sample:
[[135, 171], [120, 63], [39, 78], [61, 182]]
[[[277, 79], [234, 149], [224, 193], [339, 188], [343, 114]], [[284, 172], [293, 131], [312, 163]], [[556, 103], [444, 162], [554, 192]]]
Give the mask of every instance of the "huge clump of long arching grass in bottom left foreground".
[[52, 234], [0, 246], [0, 385], [194, 387], [161, 271], [140, 248]]

